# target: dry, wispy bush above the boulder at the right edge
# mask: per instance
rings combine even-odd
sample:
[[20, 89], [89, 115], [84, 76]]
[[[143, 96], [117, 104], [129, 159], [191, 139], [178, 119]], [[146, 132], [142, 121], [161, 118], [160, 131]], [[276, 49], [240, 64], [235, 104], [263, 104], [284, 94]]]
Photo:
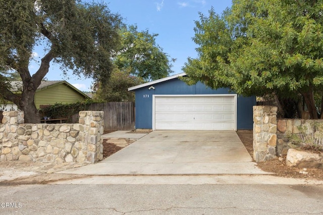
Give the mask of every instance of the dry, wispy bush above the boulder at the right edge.
[[290, 142], [295, 147], [305, 150], [323, 152], [323, 124], [308, 123], [297, 127], [299, 134], [289, 136]]

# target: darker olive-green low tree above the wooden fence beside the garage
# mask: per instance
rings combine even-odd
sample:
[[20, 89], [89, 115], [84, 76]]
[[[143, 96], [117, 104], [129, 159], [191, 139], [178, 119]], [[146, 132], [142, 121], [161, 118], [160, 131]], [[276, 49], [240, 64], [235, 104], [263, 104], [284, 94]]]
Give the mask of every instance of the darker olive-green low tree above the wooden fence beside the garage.
[[130, 75], [129, 71], [113, 70], [111, 77], [104, 83], [94, 85], [95, 101], [134, 101], [134, 92], [128, 91], [129, 87], [144, 83], [144, 81], [136, 76]]

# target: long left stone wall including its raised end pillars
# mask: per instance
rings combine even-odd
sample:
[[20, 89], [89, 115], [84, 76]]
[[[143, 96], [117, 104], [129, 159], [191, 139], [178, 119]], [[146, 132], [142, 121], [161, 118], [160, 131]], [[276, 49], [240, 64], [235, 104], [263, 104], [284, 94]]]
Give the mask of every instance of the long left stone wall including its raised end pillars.
[[78, 124], [23, 124], [23, 112], [3, 115], [0, 162], [95, 163], [103, 158], [103, 112], [82, 111]]

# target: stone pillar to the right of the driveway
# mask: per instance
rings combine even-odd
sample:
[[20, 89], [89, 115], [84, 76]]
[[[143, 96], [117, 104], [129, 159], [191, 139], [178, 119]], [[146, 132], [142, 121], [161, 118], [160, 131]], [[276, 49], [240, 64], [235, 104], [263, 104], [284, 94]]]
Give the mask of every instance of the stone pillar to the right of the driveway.
[[253, 106], [253, 159], [256, 162], [276, 157], [276, 115], [276, 106]]

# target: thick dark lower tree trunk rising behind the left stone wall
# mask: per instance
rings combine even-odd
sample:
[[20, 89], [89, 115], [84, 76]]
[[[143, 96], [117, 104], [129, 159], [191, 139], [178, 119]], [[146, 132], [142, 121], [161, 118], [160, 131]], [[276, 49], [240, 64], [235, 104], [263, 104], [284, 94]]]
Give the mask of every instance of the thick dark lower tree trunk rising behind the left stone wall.
[[19, 103], [24, 112], [25, 123], [40, 123], [40, 115], [34, 102], [36, 89], [32, 82], [25, 83]]

